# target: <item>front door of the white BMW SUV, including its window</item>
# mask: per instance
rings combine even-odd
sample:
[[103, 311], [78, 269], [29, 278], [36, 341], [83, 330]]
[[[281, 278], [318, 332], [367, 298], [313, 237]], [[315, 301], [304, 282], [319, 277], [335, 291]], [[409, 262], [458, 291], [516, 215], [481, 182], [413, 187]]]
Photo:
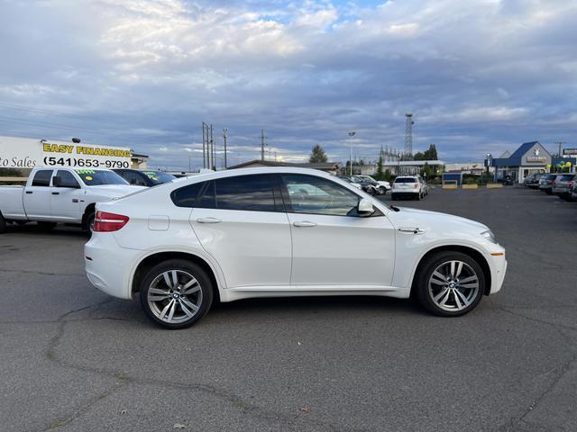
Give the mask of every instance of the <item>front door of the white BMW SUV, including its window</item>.
[[387, 217], [360, 217], [361, 197], [332, 180], [281, 177], [293, 239], [290, 284], [391, 284], [395, 233]]

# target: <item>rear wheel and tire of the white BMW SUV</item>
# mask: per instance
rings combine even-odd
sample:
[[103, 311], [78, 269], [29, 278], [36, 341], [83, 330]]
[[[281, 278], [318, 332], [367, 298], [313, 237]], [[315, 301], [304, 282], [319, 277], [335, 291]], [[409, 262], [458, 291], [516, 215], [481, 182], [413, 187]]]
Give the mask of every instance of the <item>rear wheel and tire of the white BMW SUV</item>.
[[[175, 274], [178, 290], [174, 289]], [[190, 283], [188, 291], [194, 291], [188, 293], [185, 287]], [[213, 302], [213, 287], [206, 272], [183, 259], [170, 259], [152, 267], [142, 278], [140, 292], [142, 309], [165, 329], [192, 326], [206, 315]]]

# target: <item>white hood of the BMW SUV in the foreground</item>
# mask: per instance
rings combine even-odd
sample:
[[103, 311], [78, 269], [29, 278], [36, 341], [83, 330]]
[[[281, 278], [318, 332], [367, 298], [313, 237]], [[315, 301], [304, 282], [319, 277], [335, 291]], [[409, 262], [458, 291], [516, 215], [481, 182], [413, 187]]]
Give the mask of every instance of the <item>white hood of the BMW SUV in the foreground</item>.
[[395, 225], [398, 227], [418, 227], [418, 228], [435, 228], [437, 230], [453, 231], [455, 229], [471, 229], [482, 232], [489, 229], [487, 225], [453, 216], [453, 214], [440, 213], [438, 211], [426, 211], [399, 207], [398, 212], [392, 212], [395, 216]]

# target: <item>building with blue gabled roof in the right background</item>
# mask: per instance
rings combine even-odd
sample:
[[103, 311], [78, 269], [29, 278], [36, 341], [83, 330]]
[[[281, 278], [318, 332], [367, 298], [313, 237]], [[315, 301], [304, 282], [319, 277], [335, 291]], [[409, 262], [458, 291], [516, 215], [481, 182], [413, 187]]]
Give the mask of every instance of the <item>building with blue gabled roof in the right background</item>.
[[548, 171], [551, 166], [560, 163], [571, 163], [574, 172], [575, 157], [553, 157], [539, 141], [525, 142], [510, 155], [492, 158], [489, 155], [490, 166], [495, 169], [495, 180], [499, 181], [510, 175], [514, 182], [523, 182], [527, 175]]

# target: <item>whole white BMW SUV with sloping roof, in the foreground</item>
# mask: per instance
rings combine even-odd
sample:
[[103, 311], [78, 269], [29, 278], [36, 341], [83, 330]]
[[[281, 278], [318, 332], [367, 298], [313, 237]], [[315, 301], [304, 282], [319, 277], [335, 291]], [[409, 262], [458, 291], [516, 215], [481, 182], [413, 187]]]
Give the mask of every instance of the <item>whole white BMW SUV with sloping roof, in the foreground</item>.
[[485, 225], [398, 209], [302, 168], [211, 172], [96, 207], [85, 247], [99, 290], [139, 295], [160, 325], [188, 327], [221, 302], [383, 295], [437, 315], [497, 293], [505, 249]]

